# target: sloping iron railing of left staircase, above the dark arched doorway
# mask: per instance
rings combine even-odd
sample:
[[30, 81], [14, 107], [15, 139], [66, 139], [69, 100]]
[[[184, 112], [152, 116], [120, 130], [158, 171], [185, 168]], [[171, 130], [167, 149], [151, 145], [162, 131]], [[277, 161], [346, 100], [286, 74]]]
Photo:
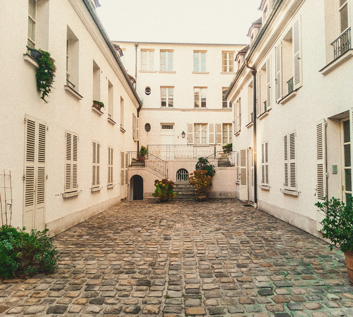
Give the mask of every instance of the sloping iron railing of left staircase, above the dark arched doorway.
[[168, 178], [168, 163], [159, 157], [148, 153], [147, 156], [140, 156], [139, 152], [129, 153], [129, 167], [146, 167], [160, 173], [164, 178]]

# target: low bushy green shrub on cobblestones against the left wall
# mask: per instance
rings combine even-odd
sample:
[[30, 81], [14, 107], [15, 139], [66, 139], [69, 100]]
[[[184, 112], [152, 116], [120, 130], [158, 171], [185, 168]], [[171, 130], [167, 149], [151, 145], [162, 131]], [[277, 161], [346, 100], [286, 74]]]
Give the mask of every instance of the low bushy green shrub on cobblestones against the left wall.
[[52, 273], [57, 268], [59, 256], [48, 229], [32, 229], [30, 233], [24, 230], [7, 225], [0, 227], [0, 277]]

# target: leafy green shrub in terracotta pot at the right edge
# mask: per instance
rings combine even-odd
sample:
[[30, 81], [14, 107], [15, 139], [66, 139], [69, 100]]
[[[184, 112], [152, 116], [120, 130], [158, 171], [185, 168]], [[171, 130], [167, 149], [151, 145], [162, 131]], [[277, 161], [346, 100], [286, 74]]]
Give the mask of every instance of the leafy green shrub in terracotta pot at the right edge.
[[349, 198], [346, 205], [334, 197], [324, 200], [315, 204], [325, 215], [320, 222], [323, 226], [320, 232], [330, 240], [330, 250], [337, 246], [344, 252], [348, 280], [353, 283], [353, 198]]

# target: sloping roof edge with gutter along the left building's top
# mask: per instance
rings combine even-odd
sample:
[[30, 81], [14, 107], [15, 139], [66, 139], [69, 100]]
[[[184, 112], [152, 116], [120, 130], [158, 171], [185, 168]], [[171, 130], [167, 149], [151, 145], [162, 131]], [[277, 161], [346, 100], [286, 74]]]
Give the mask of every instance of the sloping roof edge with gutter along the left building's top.
[[86, 5], [88, 12], [91, 14], [91, 16], [92, 16], [94, 22], [96, 23], [100, 33], [102, 34], [106, 44], [108, 45], [111, 53], [113, 54], [117, 64], [119, 65], [120, 69], [122, 70], [122, 72], [124, 74], [124, 77], [126, 78], [126, 80], [128, 82], [128, 85], [130, 86], [130, 88], [131, 88], [131, 90], [132, 90], [132, 92], [133, 92], [133, 94], [134, 94], [134, 96], [135, 96], [135, 98], [136, 98], [136, 100], [137, 100], [137, 102], [139, 104], [139, 108], [141, 108], [142, 107], [142, 103], [141, 103], [140, 97], [137, 95], [137, 92], [136, 92], [133, 84], [130, 81], [129, 75], [128, 75], [127, 71], [125, 70], [125, 67], [124, 67], [122, 61], [120, 60], [119, 55], [117, 55], [116, 49], [114, 48], [113, 44], [111, 43], [111, 41], [109, 39], [109, 36], [106, 33], [106, 31], [105, 31], [105, 29], [103, 27], [103, 24], [100, 21], [95, 9], [93, 8], [90, 0], [82, 0], [82, 1]]

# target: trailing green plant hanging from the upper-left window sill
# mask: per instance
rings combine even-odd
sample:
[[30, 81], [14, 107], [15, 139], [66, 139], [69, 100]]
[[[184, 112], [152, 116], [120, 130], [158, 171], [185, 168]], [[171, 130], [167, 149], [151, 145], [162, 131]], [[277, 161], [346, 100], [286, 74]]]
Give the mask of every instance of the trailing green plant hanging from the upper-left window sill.
[[55, 60], [50, 57], [50, 53], [39, 50], [42, 53], [42, 56], [38, 59], [39, 68], [36, 73], [36, 81], [37, 81], [37, 90], [42, 93], [42, 97], [45, 103], [48, 103], [45, 100], [52, 88], [52, 84], [54, 83], [55, 77]]

